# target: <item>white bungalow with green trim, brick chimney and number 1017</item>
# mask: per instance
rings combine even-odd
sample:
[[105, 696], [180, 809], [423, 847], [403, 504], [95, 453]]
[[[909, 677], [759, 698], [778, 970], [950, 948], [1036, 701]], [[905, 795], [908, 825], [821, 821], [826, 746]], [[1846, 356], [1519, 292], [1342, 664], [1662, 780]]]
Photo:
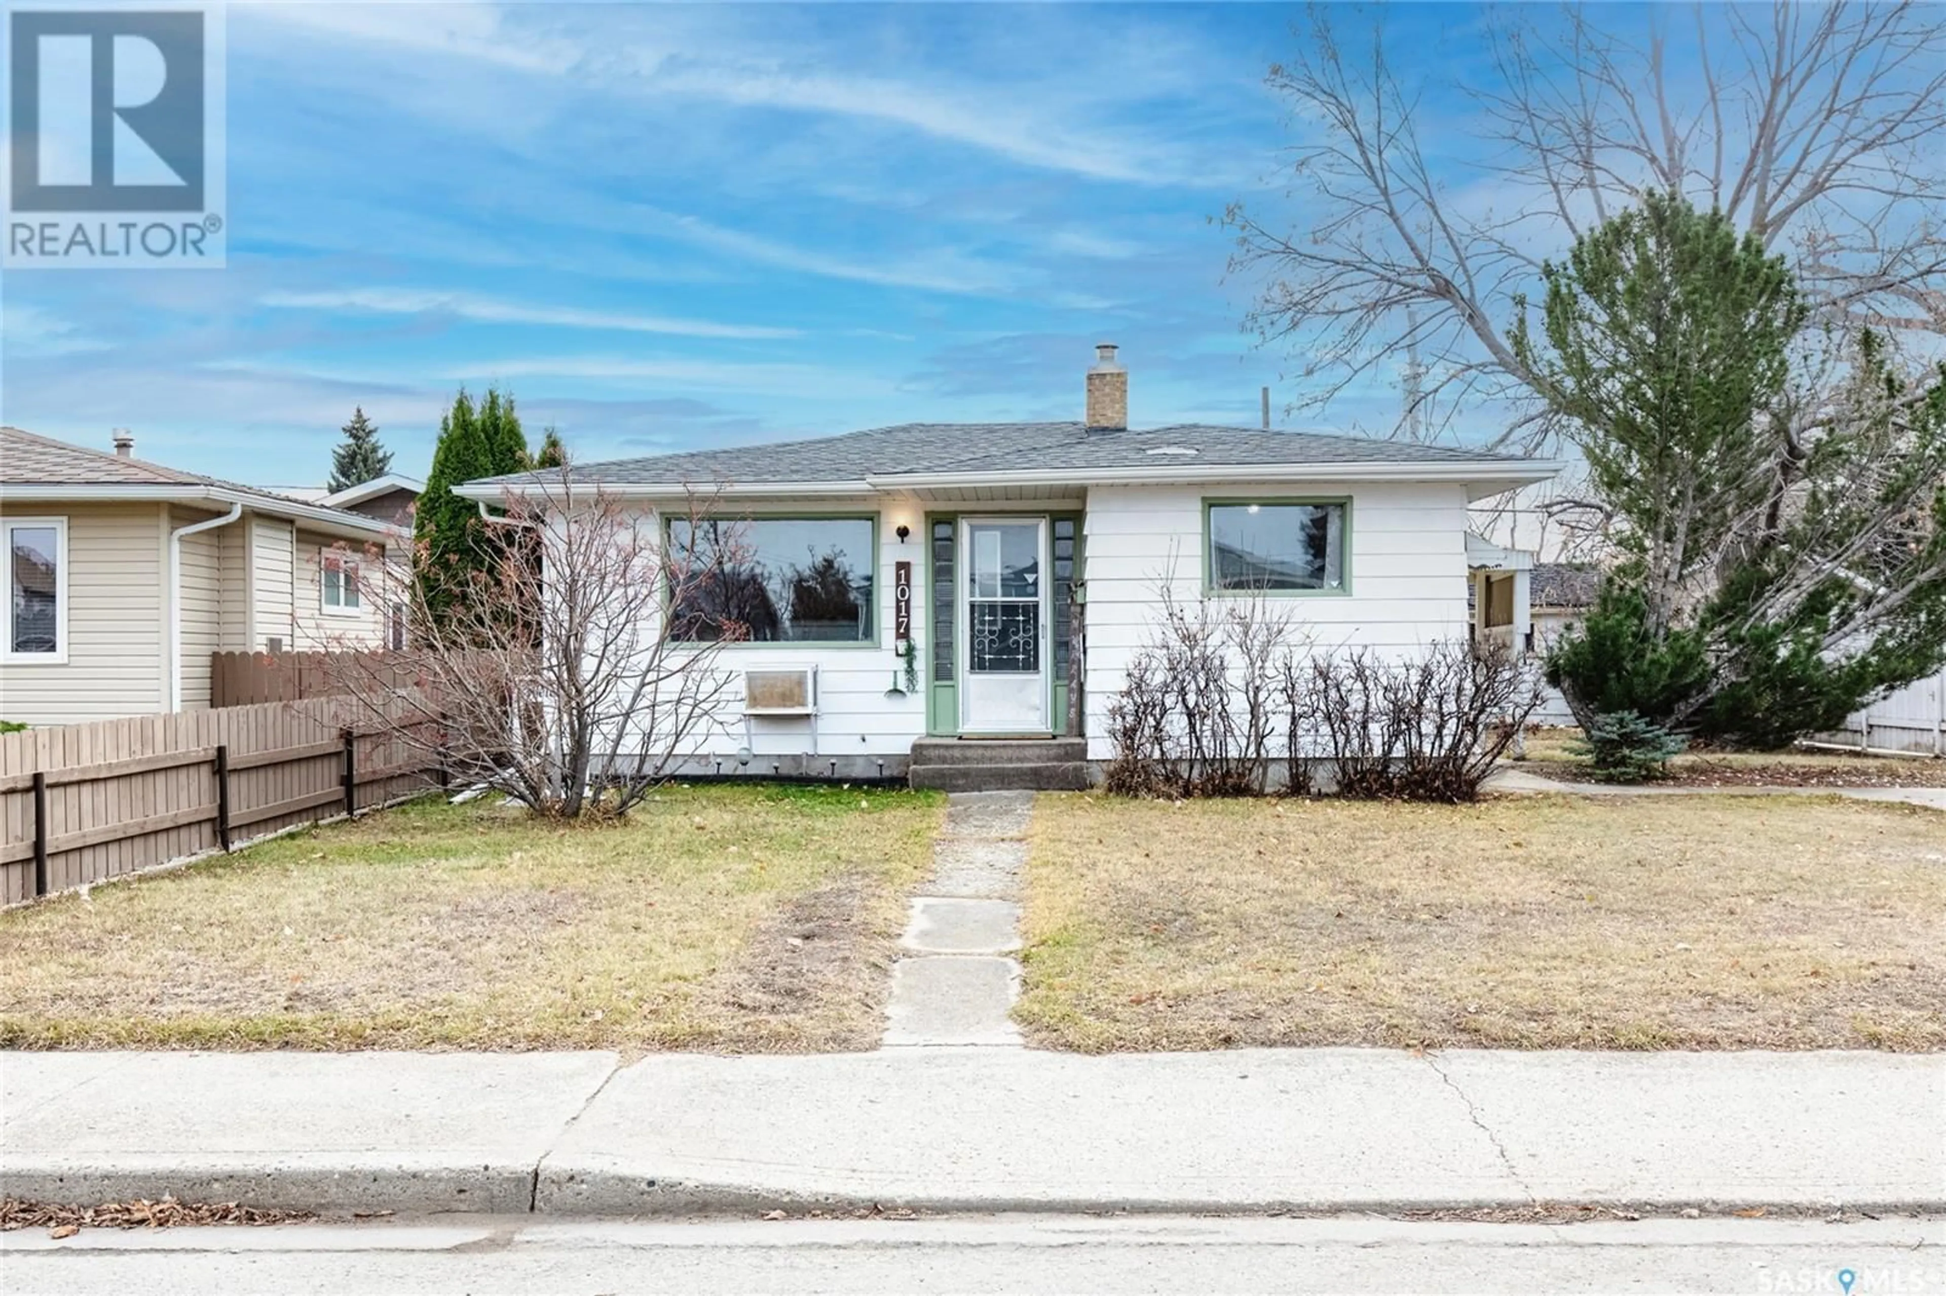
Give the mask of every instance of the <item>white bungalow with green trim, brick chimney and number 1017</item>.
[[[679, 609], [747, 634], [718, 656], [741, 687], [697, 773], [1063, 786], [1111, 755], [1107, 702], [1164, 588], [1288, 599], [1319, 648], [1465, 640], [1467, 504], [1555, 471], [1308, 432], [1131, 428], [1129, 374], [1101, 344], [1082, 420], [580, 463], [572, 483], [671, 529], [701, 490], [741, 523], [753, 574], [710, 595], [722, 607]], [[520, 483], [457, 490], [496, 502]], [[981, 769], [992, 761], [1006, 769]]]

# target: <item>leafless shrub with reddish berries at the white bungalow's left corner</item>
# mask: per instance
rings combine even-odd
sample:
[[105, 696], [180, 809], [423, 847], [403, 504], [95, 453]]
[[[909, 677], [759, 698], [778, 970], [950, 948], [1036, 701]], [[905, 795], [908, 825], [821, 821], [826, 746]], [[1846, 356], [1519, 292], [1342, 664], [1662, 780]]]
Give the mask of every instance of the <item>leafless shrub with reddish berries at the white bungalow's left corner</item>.
[[[720, 644], [685, 642], [667, 607], [718, 580], [666, 543], [656, 514], [566, 469], [535, 471], [504, 496], [500, 541], [463, 597], [434, 609], [409, 586], [411, 642], [339, 654], [339, 687], [372, 728], [467, 784], [535, 813], [621, 815], [701, 753], [730, 685]], [[710, 500], [691, 494], [691, 525]], [[736, 560], [720, 547], [718, 560]], [[428, 761], [430, 763], [430, 761]]]

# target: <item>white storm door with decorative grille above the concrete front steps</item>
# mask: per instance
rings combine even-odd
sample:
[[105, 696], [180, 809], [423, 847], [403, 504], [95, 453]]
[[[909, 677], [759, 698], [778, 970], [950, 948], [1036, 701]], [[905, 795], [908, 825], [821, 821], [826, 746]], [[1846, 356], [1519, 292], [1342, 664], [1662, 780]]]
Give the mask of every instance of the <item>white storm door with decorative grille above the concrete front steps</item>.
[[959, 523], [961, 734], [1047, 734], [1047, 518]]

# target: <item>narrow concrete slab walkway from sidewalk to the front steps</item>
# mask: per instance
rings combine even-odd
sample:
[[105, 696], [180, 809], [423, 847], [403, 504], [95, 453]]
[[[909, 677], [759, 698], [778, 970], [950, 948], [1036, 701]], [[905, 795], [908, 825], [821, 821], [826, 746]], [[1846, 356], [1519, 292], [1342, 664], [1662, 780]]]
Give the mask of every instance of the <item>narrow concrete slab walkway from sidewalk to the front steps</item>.
[[955, 792], [932, 845], [932, 880], [891, 967], [885, 1047], [1020, 1047], [1020, 870], [1031, 792]]

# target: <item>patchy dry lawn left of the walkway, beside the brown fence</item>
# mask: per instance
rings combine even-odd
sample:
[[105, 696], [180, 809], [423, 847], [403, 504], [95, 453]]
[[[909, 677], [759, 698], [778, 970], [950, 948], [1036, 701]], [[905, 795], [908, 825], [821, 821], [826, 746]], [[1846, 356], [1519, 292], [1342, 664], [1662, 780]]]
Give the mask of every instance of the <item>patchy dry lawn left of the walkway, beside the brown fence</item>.
[[940, 811], [712, 786], [559, 829], [422, 802], [0, 913], [0, 1045], [868, 1049]]

